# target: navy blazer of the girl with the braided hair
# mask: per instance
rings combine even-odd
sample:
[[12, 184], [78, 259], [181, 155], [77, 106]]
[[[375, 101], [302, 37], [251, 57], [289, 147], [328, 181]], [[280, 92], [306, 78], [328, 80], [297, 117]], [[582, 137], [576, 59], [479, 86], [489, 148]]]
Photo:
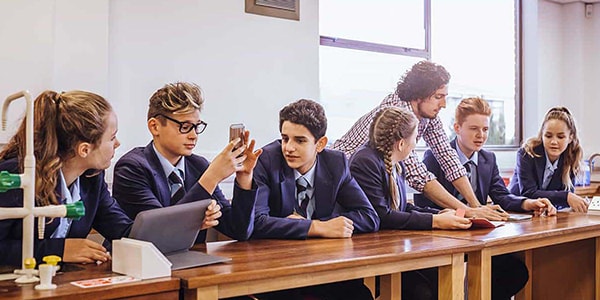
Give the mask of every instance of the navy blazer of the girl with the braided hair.
[[398, 178], [398, 188], [404, 210], [392, 210], [392, 196], [383, 157], [377, 150], [362, 146], [350, 157], [350, 171], [369, 198], [381, 219], [381, 229], [431, 229], [433, 215], [439, 210], [422, 208], [406, 202], [404, 176]]

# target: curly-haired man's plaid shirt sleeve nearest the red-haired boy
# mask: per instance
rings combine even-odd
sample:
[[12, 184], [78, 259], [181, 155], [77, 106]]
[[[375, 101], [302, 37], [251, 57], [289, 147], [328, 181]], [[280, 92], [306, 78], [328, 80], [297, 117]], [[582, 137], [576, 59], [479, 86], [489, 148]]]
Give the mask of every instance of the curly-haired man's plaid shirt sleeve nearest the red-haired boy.
[[450, 140], [448, 139], [446, 132], [444, 132], [440, 117], [436, 117], [429, 122], [429, 126], [423, 133], [423, 139], [442, 167], [448, 181], [452, 182], [467, 175], [467, 171], [458, 159], [456, 150], [450, 147]]

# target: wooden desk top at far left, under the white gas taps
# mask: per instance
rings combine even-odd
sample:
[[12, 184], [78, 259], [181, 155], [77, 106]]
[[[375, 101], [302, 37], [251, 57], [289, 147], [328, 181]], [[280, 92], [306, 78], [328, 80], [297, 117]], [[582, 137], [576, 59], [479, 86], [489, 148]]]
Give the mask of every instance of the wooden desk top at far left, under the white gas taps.
[[[73, 264], [67, 265], [74, 271], [60, 272], [52, 283], [58, 285], [55, 290], [36, 291], [36, 284], [19, 285], [14, 280], [0, 281], [0, 299], [114, 299], [123, 297], [151, 296], [151, 294], [170, 292], [164, 299], [176, 299], [179, 294], [180, 280], [175, 277], [148, 279], [132, 283], [108, 285], [98, 288], [80, 288], [70, 282], [120, 275], [111, 272], [111, 265]], [[173, 298], [174, 297], [174, 298]]]

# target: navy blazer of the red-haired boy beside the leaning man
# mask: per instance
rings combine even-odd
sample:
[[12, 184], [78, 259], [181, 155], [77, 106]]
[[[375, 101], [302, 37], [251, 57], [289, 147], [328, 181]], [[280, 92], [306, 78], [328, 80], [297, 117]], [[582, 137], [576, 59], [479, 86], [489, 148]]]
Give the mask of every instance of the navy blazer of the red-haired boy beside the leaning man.
[[[456, 151], [459, 151], [456, 145], [456, 138], [450, 142], [450, 146]], [[452, 195], [457, 196], [459, 193], [456, 188], [445, 177], [444, 173], [433, 156], [431, 150], [427, 150], [423, 156], [423, 163], [427, 169], [433, 173], [442, 186]], [[504, 180], [500, 176], [498, 164], [496, 163], [496, 155], [484, 149], [479, 150], [477, 159], [477, 191], [475, 192], [477, 200], [482, 205], [487, 203], [488, 196], [492, 198], [494, 204], [500, 205], [504, 210], [524, 212], [521, 204], [525, 197], [521, 197], [510, 193], [504, 184]], [[463, 200], [466, 203], [466, 200]], [[415, 204], [419, 206], [438, 207], [433, 201], [425, 197], [424, 194], [415, 194]]]

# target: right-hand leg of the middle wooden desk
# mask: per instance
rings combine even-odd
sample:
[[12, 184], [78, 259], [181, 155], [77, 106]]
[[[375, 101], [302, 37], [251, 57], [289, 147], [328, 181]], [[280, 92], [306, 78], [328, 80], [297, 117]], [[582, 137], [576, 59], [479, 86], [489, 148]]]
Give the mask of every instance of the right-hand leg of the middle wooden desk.
[[452, 264], [438, 268], [438, 299], [465, 299], [465, 254], [452, 255]]

